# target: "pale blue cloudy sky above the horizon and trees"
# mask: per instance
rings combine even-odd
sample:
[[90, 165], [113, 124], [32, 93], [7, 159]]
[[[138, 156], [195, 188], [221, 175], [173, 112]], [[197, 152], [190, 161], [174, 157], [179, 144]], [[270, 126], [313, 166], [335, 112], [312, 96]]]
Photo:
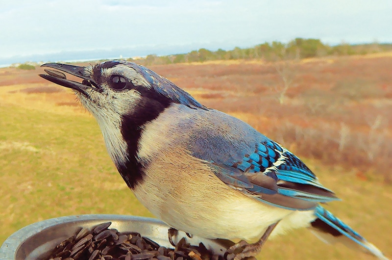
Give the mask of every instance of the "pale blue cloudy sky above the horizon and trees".
[[392, 0], [0, 0], [0, 24], [0, 64], [230, 50], [296, 37], [392, 43]]

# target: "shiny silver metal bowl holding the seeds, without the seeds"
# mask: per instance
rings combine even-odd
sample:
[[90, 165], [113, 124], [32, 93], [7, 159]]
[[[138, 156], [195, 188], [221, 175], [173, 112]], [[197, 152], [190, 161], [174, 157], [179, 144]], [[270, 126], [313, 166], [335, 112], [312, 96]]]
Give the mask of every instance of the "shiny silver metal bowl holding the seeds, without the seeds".
[[[57, 244], [71, 237], [80, 227], [91, 228], [108, 221], [112, 222], [110, 228], [117, 229], [119, 232], [138, 232], [161, 246], [172, 248], [168, 240], [170, 227], [160, 220], [136, 216], [91, 214], [52, 218], [28, 225], [4, 241], [0, 248], [0, 259], [36, 260], [48, 257]], [[189, 238], [183, 232], [178, 232], [173, 237], [174, 243], [182, 237], [185, 237], [191, 245], [198, 245], [202, 242], [218, 255], [223, 255], [226, 249], [234, 244], [224, 239], [207, 239], [198, 236]]]

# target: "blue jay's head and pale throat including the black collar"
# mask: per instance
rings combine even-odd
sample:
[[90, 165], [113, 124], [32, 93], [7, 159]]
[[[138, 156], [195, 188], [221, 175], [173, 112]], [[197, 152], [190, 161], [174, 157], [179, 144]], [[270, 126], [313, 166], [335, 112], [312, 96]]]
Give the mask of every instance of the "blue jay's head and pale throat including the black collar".
[[[109, 155], [124, 180], [130, 169], [138, 167], [135, 157], [144, 124], [173, 103], [205, 109], [167, 78], [133, 62], [113, 60], [87, 67], [47, 63], [41, 67], [50, 68], [42, 78], [73, 89], [97, 119]], [[69, 80], [62, 72], [82, 80]], [[135, 180], [125, 181], [132, 186]]]

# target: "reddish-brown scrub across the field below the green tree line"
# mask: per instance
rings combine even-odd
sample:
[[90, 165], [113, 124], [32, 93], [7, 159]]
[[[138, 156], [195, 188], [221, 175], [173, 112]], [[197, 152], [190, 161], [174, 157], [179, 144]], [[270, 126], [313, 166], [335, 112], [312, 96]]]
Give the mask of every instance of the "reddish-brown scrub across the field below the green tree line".
[[[233, 60], [149, 67], [202, 104], [240, 117], [299, 156], [356, 169], [366, 178], [382, 174], [391, 182], [390, 52], [290, 64]], [[0, 85], [42, 82], [36, 74], [4, 68]], [[76, 104], [72, 95], [48, 84], [19, 91], [46, 93], [47, 100], [53, 95], [57, 105]]]

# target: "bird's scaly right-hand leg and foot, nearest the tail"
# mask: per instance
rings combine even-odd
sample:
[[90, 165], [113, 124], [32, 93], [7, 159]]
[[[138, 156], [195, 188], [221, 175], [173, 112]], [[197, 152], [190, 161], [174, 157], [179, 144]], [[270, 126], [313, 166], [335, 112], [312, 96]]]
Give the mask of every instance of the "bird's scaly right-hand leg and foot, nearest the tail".
[[261, 248], [263, 247], [267, 238], [270, 236], [272, 230], [276, 227], [278, 223], [279, 221], [270, 225], [267, 228], [266, 232], [263, 234], [263, 236], [260, 238], [260, 240], [257, 241], [256, 243], [249, 244], [245, 240], [241, 240], [240, 242], [229, 247], [224, 254], [225, 259], [241, 260], [248, 257], [254, 257], [258, 253], [260, 253]]

